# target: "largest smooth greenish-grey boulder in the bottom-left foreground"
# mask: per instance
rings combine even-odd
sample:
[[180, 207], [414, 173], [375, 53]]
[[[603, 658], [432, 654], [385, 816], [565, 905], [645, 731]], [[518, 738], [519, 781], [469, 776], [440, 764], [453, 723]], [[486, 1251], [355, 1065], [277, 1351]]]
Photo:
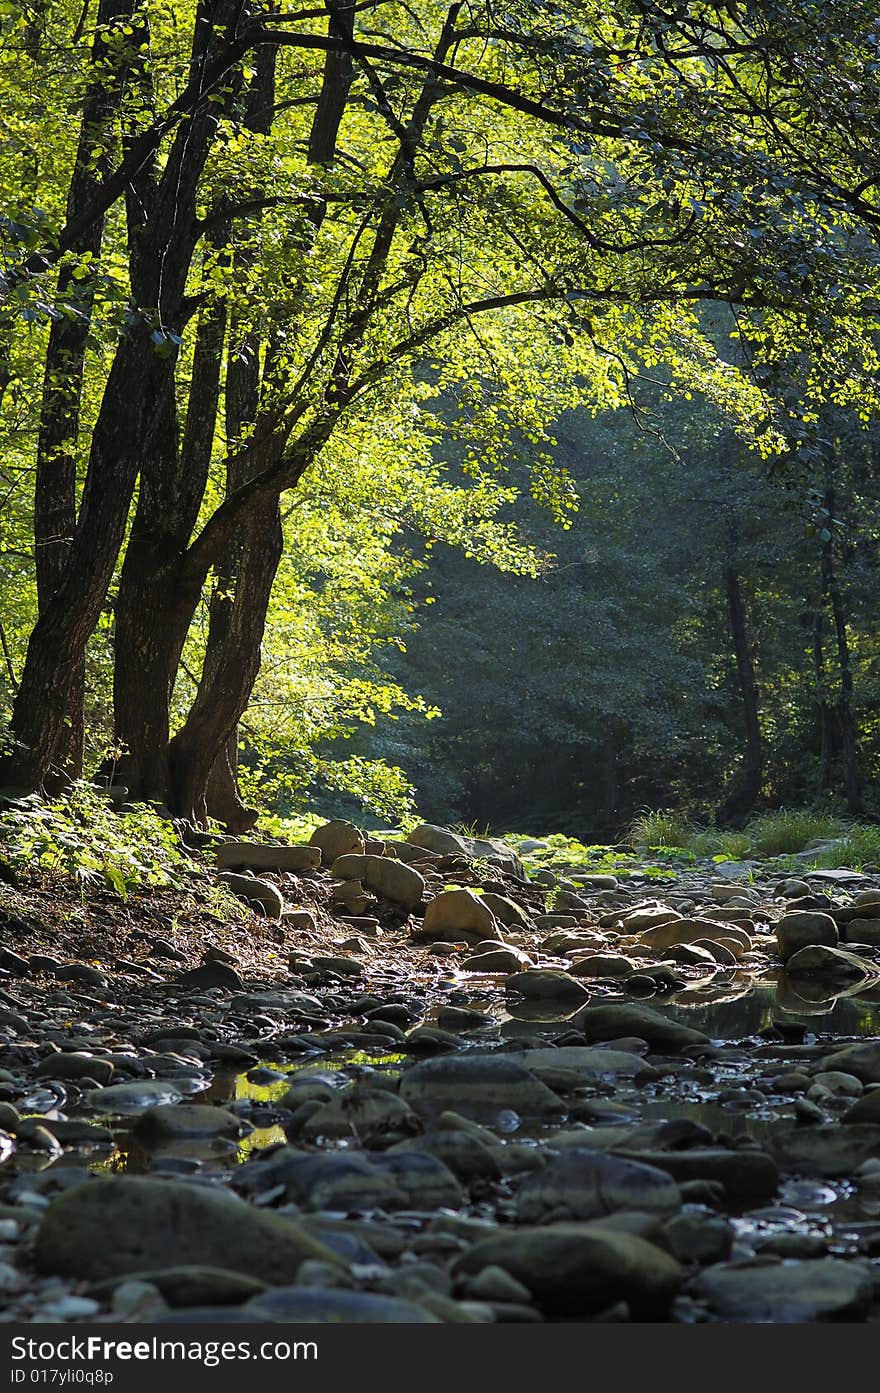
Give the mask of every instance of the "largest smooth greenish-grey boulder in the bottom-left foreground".
[[291, 1219], [228, 1191], [141, 1176], [64, 1190], [46, 1209], [35, 1248], [39, 1272], [92, 1282], [196, 1263], [281, 1284], [306, 1258], [338, 1261]]

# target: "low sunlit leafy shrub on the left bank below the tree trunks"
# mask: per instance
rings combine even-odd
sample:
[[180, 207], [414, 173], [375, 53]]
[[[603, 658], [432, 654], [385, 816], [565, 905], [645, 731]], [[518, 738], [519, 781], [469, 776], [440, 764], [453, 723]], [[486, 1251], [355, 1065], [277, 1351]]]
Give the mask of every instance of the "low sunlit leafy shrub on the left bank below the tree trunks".
[[19, 873], [50, 871], [85, 890], [106, 885], [177, 885], [191, 865], [174, 829], [153, 808], [117, 812], [93, 784], [72, 783], [53, 800], [29, 794], [0, 811], [0, 855]]

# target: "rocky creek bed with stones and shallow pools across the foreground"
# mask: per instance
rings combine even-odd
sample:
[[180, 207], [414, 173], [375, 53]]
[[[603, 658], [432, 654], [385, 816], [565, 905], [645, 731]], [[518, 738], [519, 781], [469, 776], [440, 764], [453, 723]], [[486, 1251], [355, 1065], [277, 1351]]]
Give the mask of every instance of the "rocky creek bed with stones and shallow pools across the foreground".
[[880, 875], [366, 850], [0, 886], [1, 1319], [877, 1319]]

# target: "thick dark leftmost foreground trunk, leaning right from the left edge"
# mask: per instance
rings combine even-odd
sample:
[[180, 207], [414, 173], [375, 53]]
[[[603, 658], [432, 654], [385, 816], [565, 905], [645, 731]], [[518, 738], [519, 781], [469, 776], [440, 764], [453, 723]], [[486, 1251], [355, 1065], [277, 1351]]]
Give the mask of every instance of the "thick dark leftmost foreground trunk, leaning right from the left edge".
[[[235, 0], [202, 0], [194, 26], [194, 72], [206, 72], [212, 42], [226, 36], [237, 8]], [[187, 276], [201, 234], [196, 198], [217, 118], [216, 106], [199, 106], [177, 128], [162, 176], [143, 166], [128, 188], [138, 309], [107, 375], [64, 571], [31, 635], [13, 710], [14, 747], [0, 765], [0, 783], [40, 787], [57, 768], [68, 692], [107, 595], [138, 472], [145, 462], [167, 461], [168, 403], [180, 334], [191, 312]], [[149, 496], [152, 476], [145, 485], [141, 493]]]

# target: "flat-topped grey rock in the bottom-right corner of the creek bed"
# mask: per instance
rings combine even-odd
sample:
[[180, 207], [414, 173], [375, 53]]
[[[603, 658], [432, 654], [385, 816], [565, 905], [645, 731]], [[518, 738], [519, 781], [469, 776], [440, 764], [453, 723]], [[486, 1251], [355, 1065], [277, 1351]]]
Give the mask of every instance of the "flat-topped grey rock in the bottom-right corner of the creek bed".
[[867, 1262], [817, 1258], [752, 1268], [724, 1263], [700, 1273], [691, 1290], [723, 1319], [789, 1325], [862, 1319], [873, 1280]]

